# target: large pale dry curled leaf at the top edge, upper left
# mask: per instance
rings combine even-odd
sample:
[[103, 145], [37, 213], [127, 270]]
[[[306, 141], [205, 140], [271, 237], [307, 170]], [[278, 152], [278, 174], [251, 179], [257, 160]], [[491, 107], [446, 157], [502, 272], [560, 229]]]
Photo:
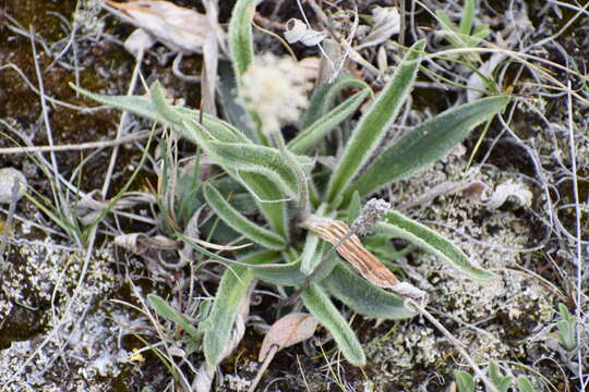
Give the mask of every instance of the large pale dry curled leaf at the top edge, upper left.
[[173, 51], [202, 52], [209, 24], [206, 15], [169, 1], [106, 1], [107, 9], [147, 32]]

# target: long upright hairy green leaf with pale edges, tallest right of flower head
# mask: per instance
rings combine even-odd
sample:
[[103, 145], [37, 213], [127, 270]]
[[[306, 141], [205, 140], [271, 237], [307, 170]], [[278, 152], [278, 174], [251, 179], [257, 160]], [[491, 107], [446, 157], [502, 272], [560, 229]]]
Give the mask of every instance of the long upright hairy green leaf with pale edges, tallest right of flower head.
[[420, 40], [409, 48], [372, 108], [358, 123], [329, 182], [329, 203], [337, 201], [388, 131], [416, 79], [424, 47], [425, 41]]

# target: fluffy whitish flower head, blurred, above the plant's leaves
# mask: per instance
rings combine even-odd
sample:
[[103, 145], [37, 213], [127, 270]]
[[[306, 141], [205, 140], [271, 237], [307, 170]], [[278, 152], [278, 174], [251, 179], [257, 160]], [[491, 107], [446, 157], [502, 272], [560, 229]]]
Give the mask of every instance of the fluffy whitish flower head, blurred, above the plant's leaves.
[[265, 53], [243, 73], [242, 81], [243, 103], [257, 113], [266, 135], [297, 121], [301, 109], [309, 103], [310, 85], [304, 70], [289, 57]]

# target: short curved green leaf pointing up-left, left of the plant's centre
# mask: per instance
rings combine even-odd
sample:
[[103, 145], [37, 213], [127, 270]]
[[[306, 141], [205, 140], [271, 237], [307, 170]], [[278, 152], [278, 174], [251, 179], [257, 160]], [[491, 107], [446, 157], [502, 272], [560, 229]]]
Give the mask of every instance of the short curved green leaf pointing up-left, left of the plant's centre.
[[268, 249], [280, 250], [286, 247], [285, 238], [243, 217], [212, 185], [205, 185], [204, 196], [217, 216], [238, 233]]

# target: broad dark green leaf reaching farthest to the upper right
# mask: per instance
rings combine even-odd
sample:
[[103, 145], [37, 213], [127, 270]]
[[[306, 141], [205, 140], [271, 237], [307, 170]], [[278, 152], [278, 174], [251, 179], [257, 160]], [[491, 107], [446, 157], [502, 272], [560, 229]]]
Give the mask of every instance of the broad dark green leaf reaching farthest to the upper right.
[[[430, 119], [385, 149], [346, 192], [366, 196], [395, 181], [405, 179], [448, 154], [469, 132], [498, 113], [509, 97], [490, 97], [462, 105]], [[345, 201], [346, 203], [346, 201]]]

